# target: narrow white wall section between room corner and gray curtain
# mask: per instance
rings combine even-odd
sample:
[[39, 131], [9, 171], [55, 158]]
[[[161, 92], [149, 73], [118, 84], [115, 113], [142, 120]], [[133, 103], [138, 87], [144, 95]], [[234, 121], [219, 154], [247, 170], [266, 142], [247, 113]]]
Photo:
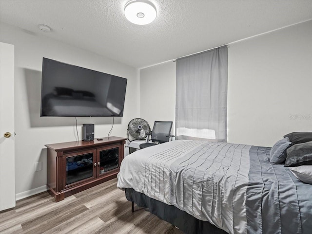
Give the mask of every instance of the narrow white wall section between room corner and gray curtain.
[[[140, 70], [140, 118], [151, 128], [154, 121], [176, 116], [176, 63], [166, 62]], [[173, 126], [171, 133], [174, 134]]]

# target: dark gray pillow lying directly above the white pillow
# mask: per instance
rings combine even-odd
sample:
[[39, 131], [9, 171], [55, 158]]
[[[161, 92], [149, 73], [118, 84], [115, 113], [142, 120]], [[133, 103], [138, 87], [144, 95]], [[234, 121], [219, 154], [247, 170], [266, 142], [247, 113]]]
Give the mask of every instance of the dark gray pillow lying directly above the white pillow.
[[284, 166], [300, 166], [303, 164], [312, 164], [312, 141], [295, 144], [287, 149]]

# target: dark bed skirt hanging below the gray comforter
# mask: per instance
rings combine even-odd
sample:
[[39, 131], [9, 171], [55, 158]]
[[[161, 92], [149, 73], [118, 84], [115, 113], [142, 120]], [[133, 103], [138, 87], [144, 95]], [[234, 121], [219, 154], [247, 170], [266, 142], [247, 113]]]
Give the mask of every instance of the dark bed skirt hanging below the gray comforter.
[[[178, 227], [185, 234], [227, 234], [208, 221], [201, 221], [175, 206], [170, 206], [132, 188], [126, 188], [126, 198], [139, 207], [149, 209], [149, 212]], [[130, 206], [129, 206], [130, 207]]]

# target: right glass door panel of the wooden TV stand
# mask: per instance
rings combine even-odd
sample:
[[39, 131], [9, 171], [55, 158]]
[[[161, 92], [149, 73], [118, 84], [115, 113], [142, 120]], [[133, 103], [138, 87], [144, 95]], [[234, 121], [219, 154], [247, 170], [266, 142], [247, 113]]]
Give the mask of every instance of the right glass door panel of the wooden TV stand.
[[118, 168], [119, 148], [99, 151], [99, 174]]

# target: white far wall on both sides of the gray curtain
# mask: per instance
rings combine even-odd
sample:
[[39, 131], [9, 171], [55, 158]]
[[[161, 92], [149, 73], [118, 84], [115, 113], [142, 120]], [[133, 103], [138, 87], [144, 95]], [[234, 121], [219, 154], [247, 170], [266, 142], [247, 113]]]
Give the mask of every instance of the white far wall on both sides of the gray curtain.
[[[228, 66], [228, 142], [272, 146], [312, 131], [312, 21], [230, 44]], [[173, 62], [140, 71], [142, 118], [174, 119], [175, 96], [164, 95], [175, 80]]]

